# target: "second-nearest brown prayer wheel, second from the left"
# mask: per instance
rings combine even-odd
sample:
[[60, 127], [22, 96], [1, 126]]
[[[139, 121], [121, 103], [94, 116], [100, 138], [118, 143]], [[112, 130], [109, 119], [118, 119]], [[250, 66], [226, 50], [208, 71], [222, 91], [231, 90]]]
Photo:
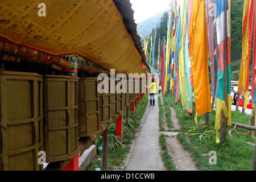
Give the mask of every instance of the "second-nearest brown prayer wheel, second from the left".
[[71, 76], [44, 78], [46, 162], [68, 160], [79, 154], [78, 81]]

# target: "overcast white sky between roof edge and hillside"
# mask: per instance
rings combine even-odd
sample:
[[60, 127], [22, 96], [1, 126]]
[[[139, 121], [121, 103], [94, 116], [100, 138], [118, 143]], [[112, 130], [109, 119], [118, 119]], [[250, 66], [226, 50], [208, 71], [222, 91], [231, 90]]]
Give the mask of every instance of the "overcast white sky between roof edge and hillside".
[[170, 4], [170, 0], [130, 0], [130, 2], [133, 4], [131, 8], [135, 11], [134, 19], [136, 23], [168, 9]]

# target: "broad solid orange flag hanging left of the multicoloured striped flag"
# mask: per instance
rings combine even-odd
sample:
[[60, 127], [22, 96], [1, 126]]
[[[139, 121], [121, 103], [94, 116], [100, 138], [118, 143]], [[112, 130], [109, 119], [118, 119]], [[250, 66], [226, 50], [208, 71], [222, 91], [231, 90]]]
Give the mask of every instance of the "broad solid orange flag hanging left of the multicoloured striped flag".
[[191, 69], [198, 115], [212, 111], [208, 72], [205, 2], [194, 1], [190, 30]]

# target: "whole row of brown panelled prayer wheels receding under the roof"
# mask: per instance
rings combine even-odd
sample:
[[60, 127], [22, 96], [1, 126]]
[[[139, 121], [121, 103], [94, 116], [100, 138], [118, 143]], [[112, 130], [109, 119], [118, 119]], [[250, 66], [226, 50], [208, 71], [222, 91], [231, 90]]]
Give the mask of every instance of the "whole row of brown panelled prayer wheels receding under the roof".
[[43, 170], [39, 151], [47, 163], [72, 159], [79, 137], [100, 134], [143, 90], [141, 80], [104, 80], [0, 72], [0, 170]]

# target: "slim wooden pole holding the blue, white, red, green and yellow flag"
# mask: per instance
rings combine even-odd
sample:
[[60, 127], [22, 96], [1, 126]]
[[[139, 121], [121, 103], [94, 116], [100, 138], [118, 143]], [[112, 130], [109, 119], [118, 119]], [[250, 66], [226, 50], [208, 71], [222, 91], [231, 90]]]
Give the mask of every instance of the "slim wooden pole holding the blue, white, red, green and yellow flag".
[[[224, 63], [224, 67], [225, 67], [225, 71], [224, 71], [224, 74], [225, 74], [225, 87], [224, 87], [224, 101], [225, 101], [225, 105], [227, 106], [227, 94], [228, 94], [228, 46], [227, 46], [227, 38], [226, 38], [226, 17], [227, 17], [227, 14], [226, 14], [226, 1], [225, 1], [225, 63]], [[226, 142], [226, 121], [227, 121], [227, 118], [225, 117], [224, 113], [223, 113], [223, 110], [222, 110], [222, 118], [221, 118], [221, 143], [225, 143]]]

